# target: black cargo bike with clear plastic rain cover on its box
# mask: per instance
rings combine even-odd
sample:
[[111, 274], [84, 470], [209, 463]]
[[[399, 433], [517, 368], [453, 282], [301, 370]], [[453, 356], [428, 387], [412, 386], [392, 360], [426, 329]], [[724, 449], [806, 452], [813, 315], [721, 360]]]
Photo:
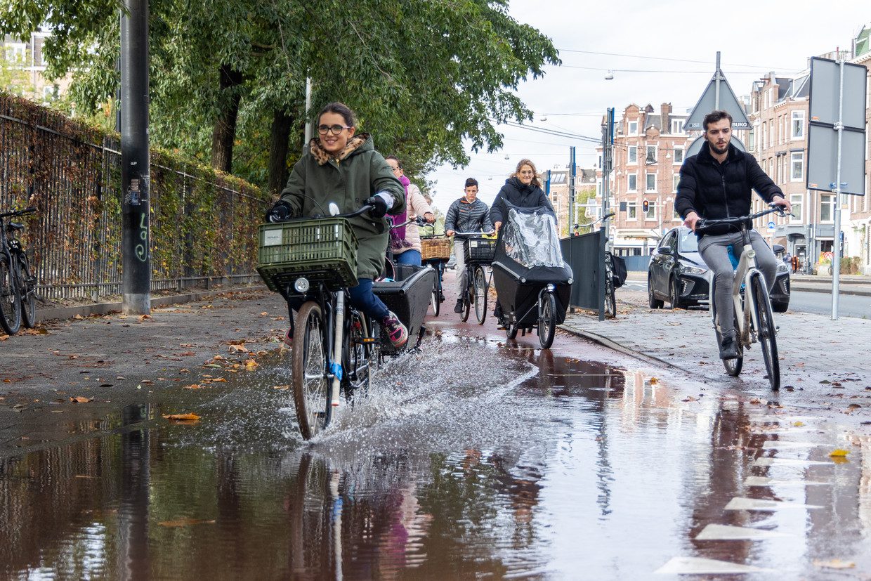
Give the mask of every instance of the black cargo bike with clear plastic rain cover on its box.
[[550, 208], [509, 206], [493, 258], [499, 323], [509, 339], [532, 332], [547, 349], [565, 321], [571, 296], [571, 267], [563, 260]]

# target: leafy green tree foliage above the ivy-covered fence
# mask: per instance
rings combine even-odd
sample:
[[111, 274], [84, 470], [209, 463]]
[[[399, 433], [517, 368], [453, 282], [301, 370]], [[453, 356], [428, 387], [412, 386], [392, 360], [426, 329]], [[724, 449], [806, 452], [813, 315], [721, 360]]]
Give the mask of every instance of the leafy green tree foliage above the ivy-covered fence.
[[[50, 24], [50, 73], [74, 71], [79, 108], [110, 99], [118, 5], [22, 4], [0, 0], [0, 32]], [[304, 110], [306, 78], [315, 107], [348, 103], [379, 150], [421, 175], [467, 163], [464, 142], [498, 149], [497, 123], [531, 118], [518, 84], [559, 62], [549, 38], [510, 17], [507, 0], [154, 0], [150, 10], [152, 138], [273, 191], [300, 154], [288, 143], [300, 144], [316, 112]]]

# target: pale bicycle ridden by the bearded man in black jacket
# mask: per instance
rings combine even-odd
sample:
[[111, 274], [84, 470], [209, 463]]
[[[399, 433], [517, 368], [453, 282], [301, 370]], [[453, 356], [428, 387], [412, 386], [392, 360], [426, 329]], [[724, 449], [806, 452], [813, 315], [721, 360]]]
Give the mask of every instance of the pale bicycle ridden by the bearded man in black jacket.
[[[787, 213], [780, 206], [769, 210], [763, 210], [750, 216], [739, 218], [724, 218], [722, 220], [700, 219], [696, 222], [696, 232], [705, 233], [711, 226], [734, 226], [738, 227], [744, 241], [744, 247], [738, 257], [734, 256], [733, 247], [730, 248], [730, 258], [735, 267], [735, 282], [732, 287], [732, 300], [735, 305], [735, 331], [738, 348], [738, 357], [724, 359], [723, 366], [726, 373], [737, 377], [741, 373], [744, 363], [744, 350], [749, 349], [755, 342], [760, 343], [762, 358], [765, 360], [768, 382], [773, 390], [780, 389], [780, 361], [777, 356], [777, 328], [774, 325], [774, 317], [771, 300], [768, 297], [768, 286], [765, 277], [756, 267], [756, 253], [750, 243], [748, 225], [769, 213], [777, 213], [786, 216]], [[714, 301], [714, 284], [710, 285], [709, 301], [714, 332], [717, 334], [717, 344], [723, 338], [717, 324], [717, 308]]]

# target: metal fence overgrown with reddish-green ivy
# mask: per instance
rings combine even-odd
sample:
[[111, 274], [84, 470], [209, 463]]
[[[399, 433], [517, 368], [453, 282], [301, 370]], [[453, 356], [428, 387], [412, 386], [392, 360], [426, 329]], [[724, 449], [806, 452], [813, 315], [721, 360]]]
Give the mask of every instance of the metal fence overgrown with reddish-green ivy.
[[[0, 94], [0, 208], [36, 206], [22, 237], [49, 300], [121, 293], [116, 138]], [[255, 186], [164, 152], [151, 159], [152, 291], [256, 278]]]

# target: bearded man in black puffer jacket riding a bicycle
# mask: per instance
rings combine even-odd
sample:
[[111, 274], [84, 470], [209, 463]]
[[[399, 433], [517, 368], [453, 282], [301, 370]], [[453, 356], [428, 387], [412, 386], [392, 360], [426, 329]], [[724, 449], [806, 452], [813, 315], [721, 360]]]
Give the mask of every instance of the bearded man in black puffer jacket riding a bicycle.
[[[674, 208], [686, 226], [695, 232], [700, 218], [717, 220], [748, 215], [752, 188], [769, 204], [784, 206], [787, 212], [790, 211], [792, 205], [784, 198], [780, 187], [762, 171], [756, 159], [729, 143], [732, 139], [732, 116], [729, 113], [712, 111], [705, 116], [702, 125], [706, 143], [699, 154], [687, 158], [680, 167], [678, 195], [674, 200]], [[723, 338], [719, 356], [734, 359], [738, 356], [732, 302], [735, 273], [727, 247], [733, 246], [737, 256], [743, 246], [741, 234], [730, 232], [730, 226], [722, 226], [720, 231], [709, 230], [706, 235], [697, 235], [699, 254], [713, 272], [714, 303]], [[750, 241], [756, 251], [756, 264], [770, 291], [777, 273], [777, 259], [760, 233], [751, 230]]]

